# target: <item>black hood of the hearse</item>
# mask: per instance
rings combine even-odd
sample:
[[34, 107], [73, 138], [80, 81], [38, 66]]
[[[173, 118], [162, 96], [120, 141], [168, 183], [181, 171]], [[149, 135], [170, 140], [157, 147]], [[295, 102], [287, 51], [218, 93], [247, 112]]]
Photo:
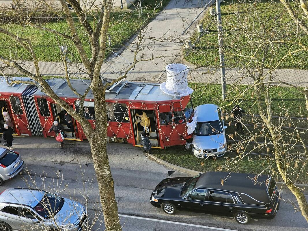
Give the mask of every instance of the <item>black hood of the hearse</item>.
[[162, 180], [154, 190], [156, 197], [180, 197], [182, 188], [189, 179], [191, 177], [172, 177]]

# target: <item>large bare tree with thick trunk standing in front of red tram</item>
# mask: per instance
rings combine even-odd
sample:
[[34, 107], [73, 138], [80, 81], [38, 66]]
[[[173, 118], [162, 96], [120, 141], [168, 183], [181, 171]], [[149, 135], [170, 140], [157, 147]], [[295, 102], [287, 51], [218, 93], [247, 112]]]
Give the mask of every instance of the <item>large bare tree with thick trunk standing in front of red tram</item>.
[[[8, 57], [5, 54], [0, 55], [0, 60], [6, 65], [1, 68], [2, 74], [5, 76], [6, 81], [9, 84], [14, 83], [26, 83], [26, 84], [35, 84], [37, 87], [41, 89], [44, 93], [49, 95], [51, 99], [59, 104], [64, 110], [66, 110], [75, 120], [77, 120], [84, 131], [84, 134], [87, 137], [87, 140], [90, 143], [91, 153], [93, 157], [93, 163], [95, 168], [95, 173], [98, 181], [99, 193], [100, 193], [100, 202], [103, 209], [104, 222], [107, 230], [121, 230], [121, 225], [119, 222], [118, 216], [118, 207], [115, 201], [115, 193], [114, 193], [114, 181], [111, 176], [111, 170], [108, 162], [106, 144], [107, 144], [107, 112], [106, 112], [106, 101], [105, 101], [105, 91], [112, 84], [120, 81], [121, 79], [126, 78], [127, 73], [136, 65], [136, 63], [140, 61], [153, 59], [144, 59], [142, 56], [137, 58], [137, 54], [142, 47], [143, 44], [143, 32], [141, 28], [145, 26], [146, 20], [140, 18], [139, 25], [137, 31], [136, 44], [134, 52], [134, 60], [132, 60], [129, 67], [125, 70], [119, 70], [121, 74], [111, 82], [104, 83], [102, 82], [102, 77], [100, 76], [100, 71], [102, 64], [104, 63], [104, 59], [106, 57], [108, 42], [108, 28], [111, 22], [111, 16], [113, 14], [113, 1], [112, 0], [104, 0], [101, 1], [102, 5], [97, 7], [95, 10], [92, 8], [95, 6], [94, 1], [87, 1], [89, 5], [81, 5], [81, 3], [77, 0], [59, 0], [61, 3], [62, 11], [54, 11], [55, 17], [63, 18], [66, 20], [68, 25], [68, 30], [64, 33], [61, 31], [57, 31], [47, 26], [43, 25], [40, 22], [36, 22], [31, 20], [31, 14], [22, 14], [24, 12], [24, 7], [17, 7], [14, 9], [14, 16], [17, 17], [19, 23], [23, 27], [36, 27], [41, 31], [47, 31], [53, 33], [57, 38], [62, 38], [65, 41], [71, 42], [75, 49], [78, 52], [79, 57], [73, 57], [74, 60], [81, 60], [82, 68], [79, 69], [80, 73], [85, 74], [90, 80], [91, 84], [87, 88], [85, 92], [77, 92], [74, 86], [72, 86], [70, 82], [70, 76], [68, 71], [68, 63], [67, 63], [67, 54], [68, 52], [61, 53], [61, 59], [64, 63], [63, 72], [66, 74], [65, 79], [67, 84], [71, 88], [71, 90], [79, 97], [80, 103], [79, 108], [83, 108], [84, 99], [87, 93], [91, 90], [94, 95], [94, 103], [95, 103], [95, 129], [89, 124], [89, 122], [83, 116], [83, 110], [75, 111], [70, 107], [70, 105], [65, 102], [63, 99], [59, 98], [58, 95], [51, 89], [48, 83], [45, 81], [43, 76], [40, 73], [39, 69], [39, 58], [36, 55], [35, 47], [31, 43], [31, 39], [23, 36], [22, 32], [17, 31], [16, 33], [12, 33], [8, 30], [8, 27], [12, 20], [9, 22], [2, 23], [2, 27], [0, 27], [0, 32], [6, 34], [12, 39], [12, 41], [16, 42], [16, 49], [22, 47], [28, 52], [31, 60], [33, 61], [33, 67], [35, 73], [29, 71], [30, 67], [24, 66], [22, 61], [17, 61], [16, 58]], [[71, 4], [74, 9], [72, 12], [67, 3]], [[52, 10], [53, 5], [51, 5], [50, 1], [46, 0], [37, 0], [33, 1], [33, 7], [30, 12], [35, 12], [36, 9], [39, 9], [39, 6], [46, 6], [48, 9]], [[74, 15], [77, 16], [79, 23], [83, 27], [83, 33], [78, 32], [76, 29], [76, 22], [74, 21]], [[91, 16], [91, 17], [90, 17]], [[152, 15], [148, 14], [147, 17], [151, 17]], [[129, 17], [129, 15], [127, 16]], [[91, 19], [89, 19], [91, 18]], [[123, 20], [123, 19], [121, 19]], [[85, 36], [87, 38], [88, 44], [84, 45], [82, 43], [81, 37]], [[59, 39], [58, 39], [59, 42]], [[60, 45], [60, 42], [59, 42]], [[90, 46], [91, 55], [90, 57], [87, 55], [85, 51], [85, 46]], [[75, 62], [77, 67], [80, 66], [81, 63]], [[22, 75], [29, 77], [34, 81], [25, 81], [25, 80], [16, 80], [10, 76], [5, 74], [6, 68], [14, 68], [19, 71]]]

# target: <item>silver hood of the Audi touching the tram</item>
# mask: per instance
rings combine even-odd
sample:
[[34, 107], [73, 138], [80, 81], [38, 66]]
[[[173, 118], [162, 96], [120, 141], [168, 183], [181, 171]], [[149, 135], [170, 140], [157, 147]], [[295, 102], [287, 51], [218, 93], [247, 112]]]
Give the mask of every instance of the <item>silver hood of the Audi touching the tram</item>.
[[201, 149], [219, 148], [221, 144], [225, 144], [225, 134], [212, 136], [193, 136], [193, 145]]

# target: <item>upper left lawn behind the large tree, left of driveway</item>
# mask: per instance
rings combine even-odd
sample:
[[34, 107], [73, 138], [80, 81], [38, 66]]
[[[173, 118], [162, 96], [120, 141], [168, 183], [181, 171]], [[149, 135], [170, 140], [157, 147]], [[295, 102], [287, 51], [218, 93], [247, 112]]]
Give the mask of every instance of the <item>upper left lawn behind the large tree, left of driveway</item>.
[[[154, 16], [160, 12], [160, 10], [165, 7], [170, 0], [163, 0], [162, 4], [159, 4], [159, 7], [156, 9], [151, 8], [143, 8], [143, 14], [141, 15], [141, 19], [139, 19], [138, 11], [118, 11], [112, 13], [112, 20], [110, 23], [110, 28], [108, 32], [111, 35], [111, 49], [117, 51], [118, 48], [122, 47], [125, 42], [127, 42], [134, 34], [136, 34], [136, 30], [140, 27], [140, 21], [148, 22], [152, 20], [152, 18], [148, 18], [148, 14], [151, 15], [155, 13]], [[154, 6], [156, 0], [144, 0], [142, 2], [143, 6]], [[76, 15], [73, 15], [76, 17]], [[88, 57], [91, 57], [90, 46], [87, 42], [87, 36], [85, 35], [85, 31], [83, 26], [78, 22], [77, 18], [74, 18], [77, 31], [79, 33], [82, 44], [85, 48]], [[88, 20], [93, 22], [93, 18], [88, 18]], [[66, 33], [71, 35], [68, 31], [67, 22], [65, 20], [59, 20], [55, 22], [48, 22], [43, 24], [43, 26], [57, 30], [61, 33]], [[23, 38], [30, 39], [35, 54], [37, 55], [39, 61], [60, 61], [60, 51], [59, 46], [56, 40], [56, 37], [53, 33], [49, 33], [46, 31], [41, 31], [36, 28], [32, 28], [30, 26], [19, 26], [17, 24], [10, 25], [2, 25], [3, 28], [8, 29], [10, 32], [14, 34], [18, 34]], [[78, 52], [74, 46], [74, 44], [62, 37], [58, 36], [60, 45], [66, 44], [71, 55], [69, 58], [71, 60], [80, 61]], [[20, 59], [20, 60], [32, 60], [30, 54], [20, 45], [11, 39], [9, 36], [5, 34], [0, 34], [0, 55], [10, 58], [10, 59]], [[111, 52], [107, 51], [106, 57], [110, 55]], [[75, 59], [72, 58], [75, 57]]]

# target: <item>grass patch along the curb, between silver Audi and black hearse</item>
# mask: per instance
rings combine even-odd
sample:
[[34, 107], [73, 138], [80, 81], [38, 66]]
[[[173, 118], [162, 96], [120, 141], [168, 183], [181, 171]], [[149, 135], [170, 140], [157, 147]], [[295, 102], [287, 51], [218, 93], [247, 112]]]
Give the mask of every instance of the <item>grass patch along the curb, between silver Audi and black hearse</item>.
[[[157, 158], [165, 160], [171, 164], [200, 172], [230, 171], [231, 168], [222, 166], [225, 165], [228, 160], [231, 160], [236, 156], [234, 153], [227, 152], [223, 157], [217, 159], [198, 159], [190, 152], [184, 152], [184, 146], [175, 146], [167, 149], [152, 149], [152, 152]], [[270, 161], [271, 164], [272, 161]], [[204, 165], [202, 166], [201, 163], [204, 163]], [[262, 156], [250, 155], [244, 157], [240, 164], [233, 169], [233, 172], [259, 174], [268, 166], [269, 163], [267, 160], [263, 159]], [[292, 164], [290, 167], [292, 167]], [[268, 174], [268, 171], [265, 171], [264, 174]], [[298, 177], [292, 176], [291, 178], [299, 184], [308, 183], [308, 175], [306, 173], [301, 173]], [[278, 177], [278, 180], [281, 181], [281, 178]]]

